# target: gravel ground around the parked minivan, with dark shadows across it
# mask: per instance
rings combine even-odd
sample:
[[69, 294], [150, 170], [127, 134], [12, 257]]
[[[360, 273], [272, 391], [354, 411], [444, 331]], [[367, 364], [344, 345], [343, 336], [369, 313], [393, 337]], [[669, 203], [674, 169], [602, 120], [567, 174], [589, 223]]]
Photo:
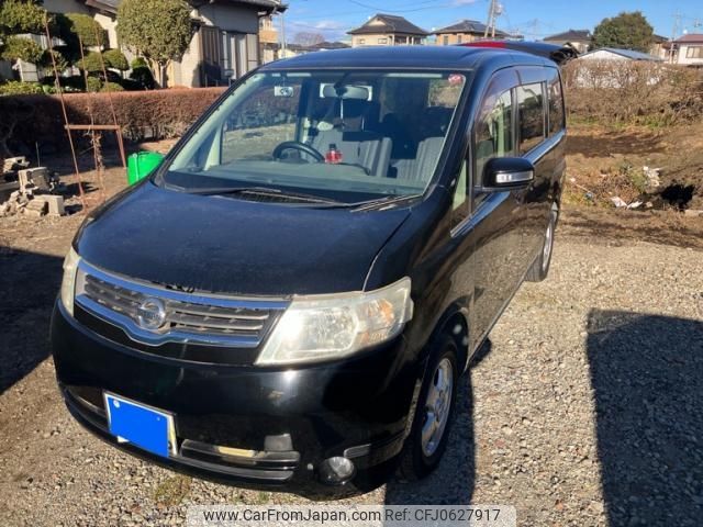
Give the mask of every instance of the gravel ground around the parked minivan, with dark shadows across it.
[[[83, 431], [46, 358], [71, 228], [3, 218], [0, 237], [20, 227], [0, 239], [0, 525], [180, 525], [191, 504], [306, 502], [177, 475]], [[549, 279], [522, 288], [465, 378], [439, 470], [348, 501], [512, 504], [521, 526], [701, 525], [702, 257], [567, 222]]]

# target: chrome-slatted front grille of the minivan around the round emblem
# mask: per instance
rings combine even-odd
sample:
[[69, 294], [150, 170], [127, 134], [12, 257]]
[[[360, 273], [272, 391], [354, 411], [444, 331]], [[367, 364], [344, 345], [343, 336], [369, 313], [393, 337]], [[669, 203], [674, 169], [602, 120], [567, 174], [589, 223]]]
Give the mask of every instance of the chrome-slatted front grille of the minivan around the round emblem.
[[[140, 340], [183, 340], [258, 346], [282, 313], [286, 302], [250, 301], [200, 294], [131, 282], [91, 268], [78, 271], [76, 301], [99, 316], [118, 323]], [[164, 323], [156, 329], [140, 325], [138, 309], [147, 299], [165, 307]], [[96, 313], [97, 312], [97, 313]], [[134, 336], [134, 335], [132, 335]], [[220, 339], [221, 341], [217, 341]]]

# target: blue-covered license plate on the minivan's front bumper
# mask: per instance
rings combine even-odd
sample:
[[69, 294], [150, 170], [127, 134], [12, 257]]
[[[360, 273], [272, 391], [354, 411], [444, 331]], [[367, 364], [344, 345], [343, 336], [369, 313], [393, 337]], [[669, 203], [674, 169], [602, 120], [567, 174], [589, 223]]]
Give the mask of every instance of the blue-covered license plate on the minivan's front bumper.
[[131, 442], [167, 458], [175, 452], [176, 433], [172, 415], [105, 393], [110, 434], [120, 442]]

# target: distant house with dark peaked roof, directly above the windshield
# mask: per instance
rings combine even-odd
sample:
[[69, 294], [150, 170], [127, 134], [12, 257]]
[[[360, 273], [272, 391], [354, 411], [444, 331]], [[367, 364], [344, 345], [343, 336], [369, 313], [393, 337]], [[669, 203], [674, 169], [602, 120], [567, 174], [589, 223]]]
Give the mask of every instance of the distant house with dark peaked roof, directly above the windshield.
[[403, 46], [422, 45], [428, 33], [402, 16], [378, 13], [369, 21], [348, 31], [352, 35], [352, 47], [361, 46]]

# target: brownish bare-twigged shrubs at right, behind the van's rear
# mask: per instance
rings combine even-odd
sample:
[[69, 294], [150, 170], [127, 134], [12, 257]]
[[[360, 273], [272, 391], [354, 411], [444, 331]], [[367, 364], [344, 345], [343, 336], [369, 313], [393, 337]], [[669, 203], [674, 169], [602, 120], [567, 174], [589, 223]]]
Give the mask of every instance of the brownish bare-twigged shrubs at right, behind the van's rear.
[[570, 116], [666, 126], [703, 115], [703, 72], [661, 63], [573, 60], [563, 68]]

